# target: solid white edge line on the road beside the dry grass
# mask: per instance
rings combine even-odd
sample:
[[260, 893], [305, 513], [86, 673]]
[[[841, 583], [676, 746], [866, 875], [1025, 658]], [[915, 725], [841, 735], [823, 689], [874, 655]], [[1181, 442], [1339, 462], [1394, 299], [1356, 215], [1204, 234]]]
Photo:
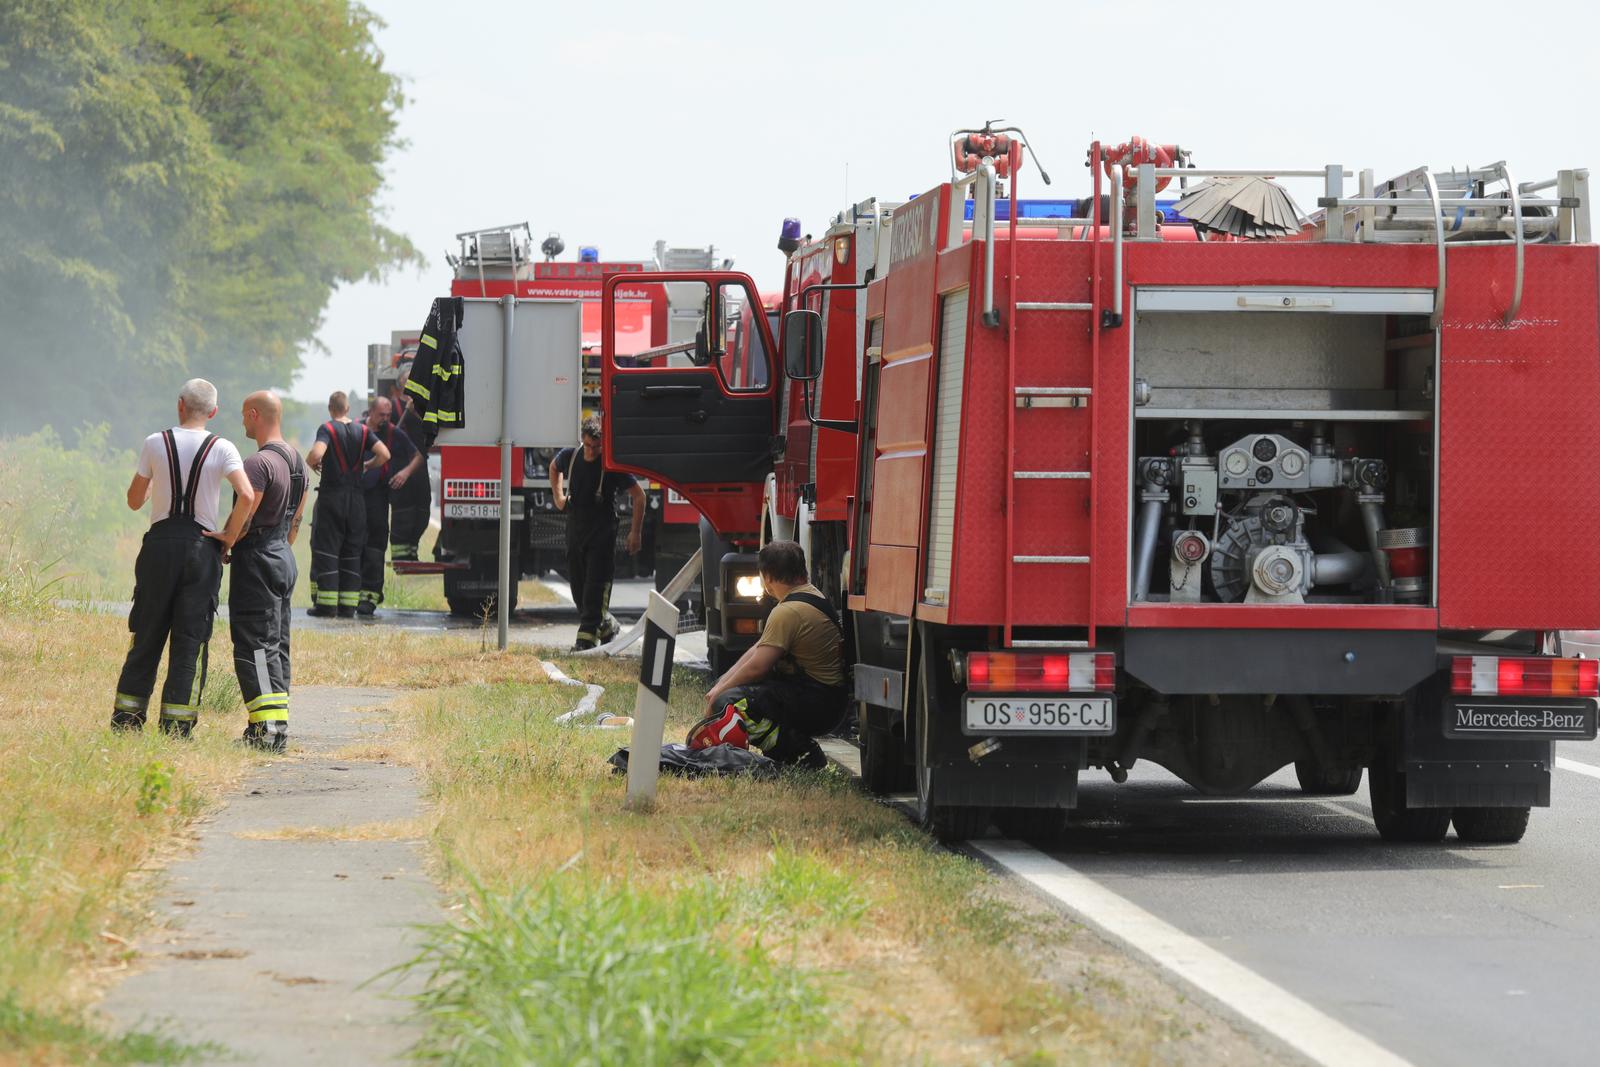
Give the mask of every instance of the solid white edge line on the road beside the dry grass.
[[1070, 865], [1019, 841], [968, 841], [1080, 920], [1171, 971], [1202, 995], [1259, 1025], [1317, 1064], [1410, 1067], [1408, 1061], [1325, 1016], [1254, 971]]

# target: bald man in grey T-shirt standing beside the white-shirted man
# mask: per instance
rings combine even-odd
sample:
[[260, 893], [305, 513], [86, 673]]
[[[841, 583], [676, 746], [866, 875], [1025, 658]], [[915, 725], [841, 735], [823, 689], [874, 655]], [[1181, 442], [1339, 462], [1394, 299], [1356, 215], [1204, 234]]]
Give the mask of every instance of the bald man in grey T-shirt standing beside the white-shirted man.
[[283, 440], [277, 397], [250, 394], [242, 418], [245, 437], [258, 445], [245, 461], [256, 512], [229, 553], [227, 621], [248, 715], [245, 741], [282, 752], [290, 733], [290, 597], [299, 577], [291, 545], [306, 510], [307, 477], [299, 453]]

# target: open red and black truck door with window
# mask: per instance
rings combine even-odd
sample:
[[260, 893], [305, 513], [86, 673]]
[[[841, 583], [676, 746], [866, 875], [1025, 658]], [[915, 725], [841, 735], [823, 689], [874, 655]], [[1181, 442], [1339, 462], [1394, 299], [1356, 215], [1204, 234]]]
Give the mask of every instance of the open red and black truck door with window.
[[[667, 291], [666, 344], [627, 342], [619, 285]], [[602, 333], [606, 467], [677, 490], [725, 537], [758, 531], [762, 485], [782, 442], [773, 338], [750, 277], [608, 277]]]

